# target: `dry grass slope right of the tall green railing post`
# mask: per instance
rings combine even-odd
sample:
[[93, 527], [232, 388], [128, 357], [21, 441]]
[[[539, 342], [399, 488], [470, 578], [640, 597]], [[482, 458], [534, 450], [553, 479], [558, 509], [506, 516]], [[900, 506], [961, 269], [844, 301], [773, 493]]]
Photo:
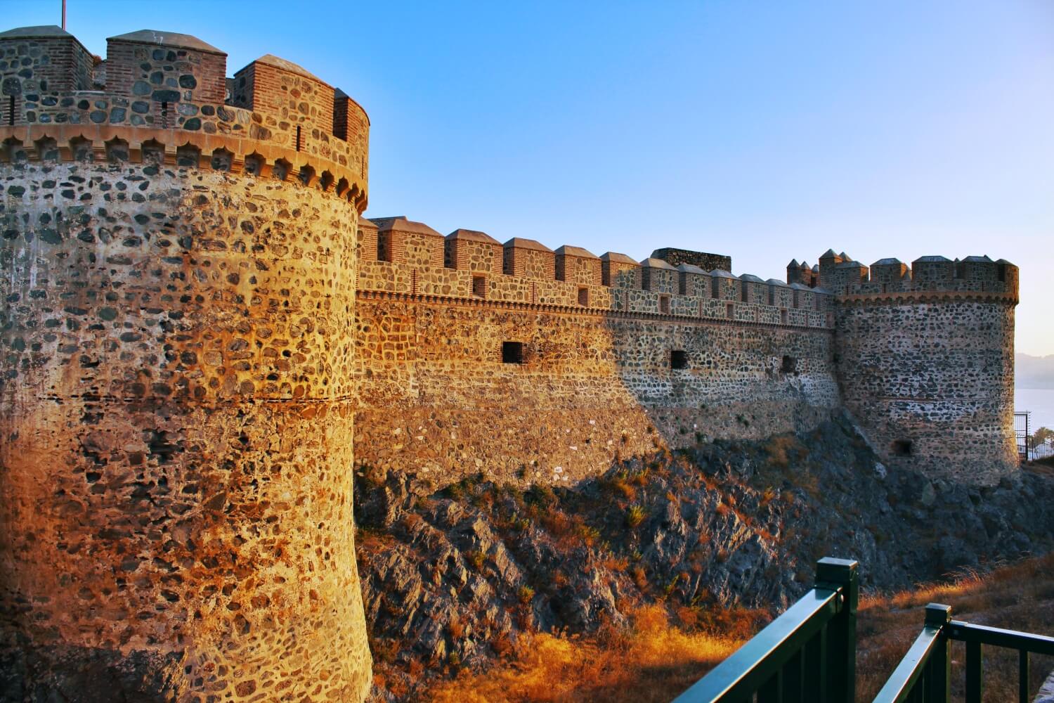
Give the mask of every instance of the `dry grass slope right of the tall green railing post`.
[[[952, 606], [956, 620], [1054, 634], [1054, 554], [987, 574], [965, 573], [948, 584], [923, 585], [860, 604], [857, 700], [870, 701], [922, 628], [928, 603]], [[952, 644], [952, 698], [963, 696], [965, 649]], [[1054, 668], [1054, 658], [1033, 657], [1030, 691]], [[984, 648], [984, 701], [1017, 701], [1017, 652]]]

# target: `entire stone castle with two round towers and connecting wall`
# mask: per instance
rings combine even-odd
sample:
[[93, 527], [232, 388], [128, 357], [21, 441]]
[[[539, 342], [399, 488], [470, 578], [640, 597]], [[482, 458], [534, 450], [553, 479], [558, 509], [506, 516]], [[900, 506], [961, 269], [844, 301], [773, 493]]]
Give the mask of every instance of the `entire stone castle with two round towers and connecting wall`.
[[270, 55], [226, 76], [186, 35], [101, 60], [0, 34], [0, 648], [36, 652], [23, 679], [360, 700], [355, 465], [570, 484], [844, 409], [891, 465], [1015, 470], [1007, 261], [832, 251], [763, 280], [366, 219], [363, 109]]

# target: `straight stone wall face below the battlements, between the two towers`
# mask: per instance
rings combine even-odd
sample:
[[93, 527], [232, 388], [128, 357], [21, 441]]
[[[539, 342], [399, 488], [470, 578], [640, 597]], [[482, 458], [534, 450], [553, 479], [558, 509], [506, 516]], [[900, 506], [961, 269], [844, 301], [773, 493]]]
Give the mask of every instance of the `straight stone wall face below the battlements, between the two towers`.
[[573, 482], [619, 454], [811, 429], [838, 404], [822, 329], [360, 291], [355, 344], [356, 463], [437, 485]]

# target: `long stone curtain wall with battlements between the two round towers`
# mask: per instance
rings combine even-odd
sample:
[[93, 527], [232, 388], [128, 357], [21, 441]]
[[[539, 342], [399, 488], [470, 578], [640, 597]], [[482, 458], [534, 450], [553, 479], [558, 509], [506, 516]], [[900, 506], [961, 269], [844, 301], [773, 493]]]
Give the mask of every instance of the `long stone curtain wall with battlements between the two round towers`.
[[405, 217], [358, 233], [359, 464], [573, 482], [838, 406], [823, 291]]

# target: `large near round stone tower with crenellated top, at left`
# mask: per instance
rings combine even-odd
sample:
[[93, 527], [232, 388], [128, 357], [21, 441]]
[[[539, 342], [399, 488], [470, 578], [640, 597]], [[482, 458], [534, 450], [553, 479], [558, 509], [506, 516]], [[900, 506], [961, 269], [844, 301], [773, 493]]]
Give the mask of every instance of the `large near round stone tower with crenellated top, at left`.
[[0, 34], [0, 690], [362, 700], [369, 122], [184, 35]]

